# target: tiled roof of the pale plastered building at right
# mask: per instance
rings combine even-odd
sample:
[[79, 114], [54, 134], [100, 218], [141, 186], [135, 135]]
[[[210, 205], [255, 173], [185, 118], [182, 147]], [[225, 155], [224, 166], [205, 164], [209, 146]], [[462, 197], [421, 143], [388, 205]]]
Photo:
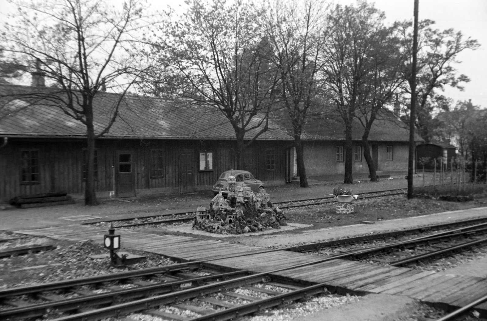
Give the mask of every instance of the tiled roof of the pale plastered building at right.
[[[345, 140], [345, 125], [343, 120], [328, 113], [330, 117], [311, 119], [304, 125], [303, 140]], [[362, 140], [364, 128], [362, 124], [354, 119], [352, 123], [352, 139]], [[415, 134], [415, 141], [423, 141], [419, 135]], [[408, 126], [398, 119], [393, 113], [383, 111], [374, 120], [369, 134], [369, 141], [409, 141]]]

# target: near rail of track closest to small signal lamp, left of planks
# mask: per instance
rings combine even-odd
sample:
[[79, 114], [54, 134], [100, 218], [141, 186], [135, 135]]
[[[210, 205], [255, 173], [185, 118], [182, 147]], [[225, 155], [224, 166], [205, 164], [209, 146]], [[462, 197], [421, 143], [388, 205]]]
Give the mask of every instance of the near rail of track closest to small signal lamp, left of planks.
[[[32, 304], [25, 307], [16, 307], [11, 309], [0, 310], [0, 319], [9, 320], [11, 318], [32, 318], [42, 316], [48, 309], [57, 309], [59, 311], [67, 311], [80, 308], [82, 306], [98, 305], [98, 304], [110, 304], [120, 299], [126, 298], [140, 298], [147, 297], [149, 295], [160, 294], [163, 292], [171, 292], [180, 289], [182, 286], [195, 287], [199, 286], [200, 282], [209, 281], [220, 278], [235, 277], [241, 274], [248, 274], [248, 270], [239, 270], [235, 272], [227, 272], [213, 275], [204, 275], [197, 278], [184, 279], [173, 282], [157, 283], [153, 285], [132, 287], [121, 290], [114, 290], [99, 294], [83, 295], [75, 298], [69, 298], [64, 300], [57, 300], [52, 302], [44, 302], [39, 304]], [[189, 284], [189, 285], [188, 285]], [[177, 288], [176, 288], [177, 287]]]

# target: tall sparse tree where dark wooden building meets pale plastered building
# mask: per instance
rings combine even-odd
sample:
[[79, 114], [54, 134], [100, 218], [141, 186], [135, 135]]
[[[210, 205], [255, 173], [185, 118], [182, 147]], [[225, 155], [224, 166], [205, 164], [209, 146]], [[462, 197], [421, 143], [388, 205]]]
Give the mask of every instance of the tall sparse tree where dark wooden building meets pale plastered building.
[[281, 103], [293, 128], [301, 187], [309, 186], [301, 134], [323, 85], [319, 70], [327, 36], [325, 11], [323, 1], [276, 1], [266, 19], [268, 37], [274, 48], [274, 64], [279, 72]]

